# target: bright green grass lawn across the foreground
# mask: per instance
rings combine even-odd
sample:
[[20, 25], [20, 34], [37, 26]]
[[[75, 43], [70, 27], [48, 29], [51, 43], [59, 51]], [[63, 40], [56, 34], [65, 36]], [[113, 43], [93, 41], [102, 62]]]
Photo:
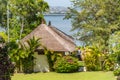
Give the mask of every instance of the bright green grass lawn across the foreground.
[[113, 72], [14, 74], [12, 80], [116, 80]]

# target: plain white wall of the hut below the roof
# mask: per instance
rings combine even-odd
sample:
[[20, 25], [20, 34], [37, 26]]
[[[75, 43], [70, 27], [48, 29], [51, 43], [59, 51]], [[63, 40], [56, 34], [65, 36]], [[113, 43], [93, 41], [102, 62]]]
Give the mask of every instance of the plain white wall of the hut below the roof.
[[34, 56], [36, 58], [34, 72], [49, 72], [47, 57], [45, 55], [38, 55], [37, 53]]

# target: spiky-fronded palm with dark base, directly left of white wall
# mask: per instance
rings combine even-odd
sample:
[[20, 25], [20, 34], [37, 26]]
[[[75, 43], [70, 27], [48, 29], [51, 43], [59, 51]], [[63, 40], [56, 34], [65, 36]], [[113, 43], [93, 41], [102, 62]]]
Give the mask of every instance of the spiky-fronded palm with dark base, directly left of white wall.
[[40, 38], [36, 39], [35, 37], [29, 39], [27, 41], [28, 45], [24, 45], [24, 49], [28, 56], [24, 58], [23, 61], [23, 71], [25, 73], [31, 73], [33, 72], [33, 67], [34, 67], [34, 53], [36, 49], [38, 49], [41, 44], [40, 44]]

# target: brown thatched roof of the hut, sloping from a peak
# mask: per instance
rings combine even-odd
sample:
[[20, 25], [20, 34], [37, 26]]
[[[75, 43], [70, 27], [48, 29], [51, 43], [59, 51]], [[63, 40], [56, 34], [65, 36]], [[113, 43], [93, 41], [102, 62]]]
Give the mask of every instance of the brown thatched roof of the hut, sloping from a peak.
[[55, 27], [45, 24], [39, 25], [30, 34], [24, 37], [21, 41], [26, 42], [28, 39], [35, 36], [41, 38], [40, 42], [47, 49], [53, 51], [74, 51], [75, 44], [73, 38]]

